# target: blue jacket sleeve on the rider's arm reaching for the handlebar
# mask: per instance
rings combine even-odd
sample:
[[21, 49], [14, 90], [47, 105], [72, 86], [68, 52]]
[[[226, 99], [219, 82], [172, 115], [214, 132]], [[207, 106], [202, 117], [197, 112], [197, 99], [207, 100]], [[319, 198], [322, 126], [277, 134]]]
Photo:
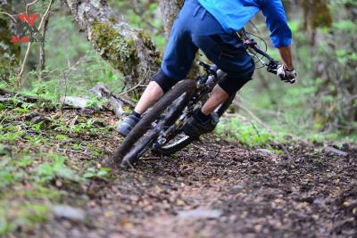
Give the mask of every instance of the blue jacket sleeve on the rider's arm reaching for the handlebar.
[[291, 45], [292, 32], [287, 25], [286, 12], [281, 0], [262, 0], [261, 7], [274, 47]]

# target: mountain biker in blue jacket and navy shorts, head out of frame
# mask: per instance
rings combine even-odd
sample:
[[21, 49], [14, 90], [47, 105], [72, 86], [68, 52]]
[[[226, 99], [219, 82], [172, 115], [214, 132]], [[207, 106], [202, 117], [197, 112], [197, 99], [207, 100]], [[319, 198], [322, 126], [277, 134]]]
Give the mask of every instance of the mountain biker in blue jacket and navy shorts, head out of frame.
[[189, 136], [211, 132], [218, 122], [213, 111], [252, 79], [253, 59], [234, 33], [260, 11], [270, 29], [272, 45], [278, 48], [283, 62], [278, 77], [296, 78], [290, 48], [292, 32], [281, 0], [186, 0], [170, 32], [161, 70], [152, 77], [134, 111], [121, 121], [120, 135], [128, 135], [149, 107], [187, 77], [198, 49], [227, 75], [220, 78], [203, 107], [187, 120], [184, 131]]

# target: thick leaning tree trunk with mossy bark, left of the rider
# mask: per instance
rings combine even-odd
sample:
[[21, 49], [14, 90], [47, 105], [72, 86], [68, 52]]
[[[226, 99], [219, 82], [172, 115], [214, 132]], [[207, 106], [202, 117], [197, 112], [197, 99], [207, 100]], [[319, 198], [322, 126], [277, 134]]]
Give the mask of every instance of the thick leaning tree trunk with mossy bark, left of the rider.
[[65, 0], [79, 30], [100, 55], [126, 77], [126, 86], [147, 82], [159, 68], [160, 54], [141, 29], [130, 29], [105, 0]]

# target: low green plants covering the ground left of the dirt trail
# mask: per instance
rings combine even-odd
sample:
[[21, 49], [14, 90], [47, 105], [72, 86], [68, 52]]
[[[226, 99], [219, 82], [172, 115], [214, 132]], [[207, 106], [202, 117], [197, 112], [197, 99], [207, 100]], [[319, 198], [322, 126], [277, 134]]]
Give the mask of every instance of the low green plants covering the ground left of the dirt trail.
[[[24, 105], [22, 107], [22, 105]], [[46, 121], [31, 123], [24, 119], [24, 111], [30, 108], [38, 111], [37, 104], [26, 105], [19, 98], [4, 103], [0, 114], [0, 236], [31, 230], [37, 223], [44, 223], [51, 214], [47, 206], [62, 202], [68, 192], [62, 185], [71, 188], [86, 185], [87, 179], [110, 179], [109, 168], [97, 168], [96, 163], [80, 164], [60, 152], [54, 152], [58, 144], [75, 150], [92, 151], [102, 155], [101, 149], [93, 144], [79, 144], [68, 140], [71, 128], [61, 134], [54, 127], [68, 127], [68, 121], [61, 115], [48, 116]], [[79, 127], [105, 133], [100, 119], [78, 119]], [[102, 128], [101, 128], [102, 127]], [[46, 136], [46, 138], [44, 137]], [[64, 195], [64, 196], [63, 196]], [[46, 205], [43, 205], [46, 204]]]

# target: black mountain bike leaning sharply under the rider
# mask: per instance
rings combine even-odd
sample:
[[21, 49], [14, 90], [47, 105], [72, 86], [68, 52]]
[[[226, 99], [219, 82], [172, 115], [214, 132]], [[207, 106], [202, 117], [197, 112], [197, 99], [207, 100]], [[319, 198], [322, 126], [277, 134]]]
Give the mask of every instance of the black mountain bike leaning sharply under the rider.
[[[268, 72], [277, 74], [278, 62], [258, 46], [251, 37], [252, 35], [245, 29], [237, 32], [237, 37], [243, 40], [248, 53], [256, 57]], [[268, 60], [267, 63], [263, 62], [264, 58]], [[145, 152], [151, 151], [159, 155], [170, 155], [198, 140], [198, 138], [185, 135], [183, 126], [195, 109], [205, 103], [213, 87], [225, 75], [225, 72], [216, 65], [205, 62], [200, 62], [199, 65], [203, 67], [205, 75], [197, 77], [195, 80], [180, 81], [168, 93], [164, 94], [151, 109], [145, 112], [137, 126], [131, 130], [114, 152], [112, 160], [115, 163], [132, 168]], [[235, 96], [230, 96], [225, 103], [222, 103], [215, 110], [214, 115], [216, 115], [217, 120], [228, 110]]]

